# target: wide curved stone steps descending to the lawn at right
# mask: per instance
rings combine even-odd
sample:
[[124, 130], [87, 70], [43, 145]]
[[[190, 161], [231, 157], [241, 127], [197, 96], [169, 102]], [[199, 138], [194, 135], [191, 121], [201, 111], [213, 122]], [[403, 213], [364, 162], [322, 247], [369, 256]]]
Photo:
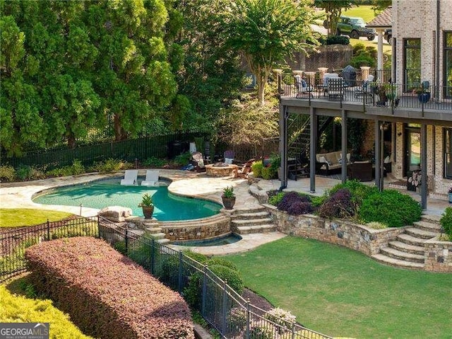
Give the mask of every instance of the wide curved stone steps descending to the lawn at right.
[[414, 270], [424, 269], [424, 242], [439, 235], [439, 217], [424, 215], [420, 222], [389, 241], [388, 246], [380, 249], [380, 253], [372, 258], [386, 265]]

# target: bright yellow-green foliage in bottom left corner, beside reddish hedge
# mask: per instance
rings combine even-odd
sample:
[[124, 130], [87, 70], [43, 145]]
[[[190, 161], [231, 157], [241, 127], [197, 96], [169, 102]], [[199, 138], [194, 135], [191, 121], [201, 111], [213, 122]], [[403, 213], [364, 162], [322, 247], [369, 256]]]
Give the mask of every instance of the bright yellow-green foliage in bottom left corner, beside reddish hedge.
[[0, 322], [52, 323], [49, 338], [91, 338], [84, 335], [69, 316], [59, 311], [49, 299], [35, 299], [32, 285], [22, 285], [25, 296], [12, 294], [5, 285], [0, 285]]

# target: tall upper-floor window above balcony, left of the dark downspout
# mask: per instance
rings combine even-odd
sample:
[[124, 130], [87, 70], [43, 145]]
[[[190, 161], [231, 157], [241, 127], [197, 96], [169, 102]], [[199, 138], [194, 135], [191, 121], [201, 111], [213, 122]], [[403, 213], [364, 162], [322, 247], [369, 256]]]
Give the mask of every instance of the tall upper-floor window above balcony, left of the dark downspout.
[[412, 91], [421, 84], [421, 40], [405, 39], [403, 48], [405, 91]]

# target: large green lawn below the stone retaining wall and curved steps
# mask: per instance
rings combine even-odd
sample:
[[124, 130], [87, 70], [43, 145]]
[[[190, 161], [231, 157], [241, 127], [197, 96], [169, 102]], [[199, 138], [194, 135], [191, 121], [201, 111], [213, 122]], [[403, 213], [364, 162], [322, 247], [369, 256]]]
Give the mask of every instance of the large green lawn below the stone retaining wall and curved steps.
[[391, 268], [348, 248], [290, 236], [225, 258], [246, 287], [315, 331], [451, 338], [451, 274]]

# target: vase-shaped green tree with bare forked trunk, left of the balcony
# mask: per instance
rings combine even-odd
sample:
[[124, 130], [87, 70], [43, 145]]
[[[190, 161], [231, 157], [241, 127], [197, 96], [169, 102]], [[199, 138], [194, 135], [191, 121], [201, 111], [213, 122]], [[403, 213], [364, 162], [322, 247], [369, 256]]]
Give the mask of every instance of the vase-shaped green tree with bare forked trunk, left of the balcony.
[[225, 6], [227, 40], [256, 75], [261, 105], [272, 69], [293, 52], [318, 43], [309, 25], [314, 22], [311, 5], [307, 0], [237, 0]]

